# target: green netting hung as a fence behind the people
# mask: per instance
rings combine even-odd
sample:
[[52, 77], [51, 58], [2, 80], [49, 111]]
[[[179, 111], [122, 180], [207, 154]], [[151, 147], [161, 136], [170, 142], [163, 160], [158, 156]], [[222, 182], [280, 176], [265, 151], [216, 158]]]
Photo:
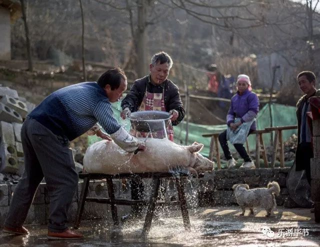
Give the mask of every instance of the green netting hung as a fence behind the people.
[[[120, 118], [120, 102], [112, 104], [113, 112], [115, 118], [123, 125], [127, 130], [130, 128], [129, 120], [122, 120]], [[297, 124], [295, 116], [295, 107], [287, 106], [283, 104], [272, 103], [271, 104], [271, 113], [272, 113], [272, 126], [284, 126], [284, 125], [294, 125]], [[269, 114], [269, 105], [266, 104], [259, 111], [257, 115], [257, 129], [264, 129], [265, 127], [270, 127], [270, 114]], [[182, 121], [174, 128], [174, 141], [179, 144], [185, 144], [185, 134], [186, 134], [186, 122]], [[188, 140], [187, 144], [191, 144], [194, 141], [204, 144], [201, 153], [205, 156], [209, 154], [210, 147], [210, 138], [203, 137], [202, 134], [205, 133], [219, 133], [226, 129], [225, 124], [221, 125], [203, 125], [188, 123]], [[288, 139], [293, 133], [296, 134], [296, 129], [283, 130], [283, 140]], [[274, 133], [273, 133], [274, 136]], [[100, 140], [99, 137], [93, 135], [88, 137], [88, 145], [93, 142]], [[270, 133], [263, 134], [263, 140], [265, 145], [270, 144]], [[250, 135], [248, 137], [249, 149], [255, 149], [255, 135]], [[234, 151], [233, 145], [229, 145], [231, 150]], [[222, 150], [221, 150], [222, 151]]]

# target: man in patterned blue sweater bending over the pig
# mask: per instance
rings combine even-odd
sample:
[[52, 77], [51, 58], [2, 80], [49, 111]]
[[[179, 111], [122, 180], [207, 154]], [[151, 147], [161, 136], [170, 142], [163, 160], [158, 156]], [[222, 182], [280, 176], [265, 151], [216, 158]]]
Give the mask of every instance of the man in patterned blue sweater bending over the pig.
[[[22, 225], [44, 177], [50, 198], [48, 238], [83, 237], [66, 226], [67, 212], [78, 184], [69, 141], [99, 122], [124, 150], [143, 150], [144, 144], [129, 135], [113, 116], [110, 103], [122, 96], [126, 86], [123, 70], [109, 69], [97, 82], [78, 83], [51, 93], [30, 112], [21, 128], [24, 172], [14, 190], [4, 232], [28, 234]], [[98, 133], [108, 138], [101, 130]]]

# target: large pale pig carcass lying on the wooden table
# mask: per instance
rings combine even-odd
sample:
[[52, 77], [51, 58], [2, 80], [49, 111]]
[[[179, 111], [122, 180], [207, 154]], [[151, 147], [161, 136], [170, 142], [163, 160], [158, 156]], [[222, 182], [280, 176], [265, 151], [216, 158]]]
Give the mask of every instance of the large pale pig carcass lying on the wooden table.
[[182, 146], [166, 138], [147, 138], [145, 150], [133, 154], [125, 152], [113, 141], [101, 140], [87, 148], [83, 166], [86, 172], [105, 174], [168, 172], [180, 166], [196, 174], [199, 171], [210, 171], [214, 165], [198, 153], [202, 147], [203, 144], [196, 142]]

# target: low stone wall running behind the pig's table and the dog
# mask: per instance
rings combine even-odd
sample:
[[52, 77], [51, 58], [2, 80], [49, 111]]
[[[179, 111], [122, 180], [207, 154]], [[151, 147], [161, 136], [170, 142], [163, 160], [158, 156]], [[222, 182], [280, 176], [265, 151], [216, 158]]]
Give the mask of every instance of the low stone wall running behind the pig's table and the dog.
[[[247, 183], [251, 188], [265, 187], [269, 181], [277, 181], [280, 185], [280, 195], [276, 196], [278, 205], [290, 206], [290, 198], [285, 187], [286, 175], [290, 168], [259, 168], [259, 169], [222, 169], [207, 172], [203, 177], [189, 178], [184, 182], [184, 190], [188, 208], [198, 206], [217, 206], [236, 204], [232, 185]], [[148, 199], [151, 186], [150, 179], [144, 178], [144, 198]], [[74, 221], [79, 202], [82, 181], [79, 181], [69, 210], [69, 221]], [[3, 225], [9, 208], [12, 193], [16, 184], [0, 184], [0, 226]], [[162, 183], [165, 187], [163, 199], [166, 201], [178, 198], [176, 185], [173, 179]], [[113, 179], [115, 198], [130, 198], [129, 182], [122, 185], [121, 180]], [[106, 182], [103, 180], [90, 181], [88, 197], [108, 198]], [[48, 221], [49, 197], [45, 183], [40, 183], [30, 207], [25, 224], [46, 224]], [[178, 209], [178, 206], [175, 206]], [[127, 214], [129, 206], [117, 205], [118, 216]], [[83, 219], [106, 218], [112, 222], [110, 206], [103, 203], [86, 202], [82, 215]]]

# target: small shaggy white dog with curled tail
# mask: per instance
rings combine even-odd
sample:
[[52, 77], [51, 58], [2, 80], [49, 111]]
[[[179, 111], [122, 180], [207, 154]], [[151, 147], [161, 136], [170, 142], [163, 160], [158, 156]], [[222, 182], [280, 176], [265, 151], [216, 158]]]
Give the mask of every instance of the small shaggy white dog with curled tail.
[[245, 208], [250, 209], [250, 214], [254, 214], [253, 207], [261, 206], [266, 210], [265, 216], [271, 215], [271, 210], [275, 207], [274, 194], [279, 195], [280, 186], [277, 182], [269, 182], [266, 188], [249, 189], [249, 185], [237, 183], [232, 186], [236, 202], [240, 205], [244, 215]]

